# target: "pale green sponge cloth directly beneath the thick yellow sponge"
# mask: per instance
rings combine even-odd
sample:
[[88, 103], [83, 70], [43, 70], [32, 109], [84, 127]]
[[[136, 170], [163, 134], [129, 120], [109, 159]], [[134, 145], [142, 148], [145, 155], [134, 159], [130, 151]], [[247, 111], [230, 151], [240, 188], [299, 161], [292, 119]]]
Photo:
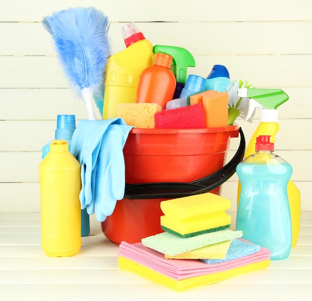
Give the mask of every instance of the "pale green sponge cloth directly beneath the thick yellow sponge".
[[232, 231], [228, 229], [189, 238], [181, 238], [169, 232], [163, 232], [143, 238], [142, 244], [157, 252], [174, 256], [242, 236], [242, 231]]

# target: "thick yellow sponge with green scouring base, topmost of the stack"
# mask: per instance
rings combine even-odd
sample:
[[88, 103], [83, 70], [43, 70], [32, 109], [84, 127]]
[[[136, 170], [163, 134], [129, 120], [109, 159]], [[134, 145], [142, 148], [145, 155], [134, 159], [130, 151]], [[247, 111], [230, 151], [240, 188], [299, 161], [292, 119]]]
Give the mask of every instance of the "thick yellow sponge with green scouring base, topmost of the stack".
[[162, 201], [160, 226], [180, 237], [223, 230], [231, 225], [231, 216], [225, 213], [230, 207], [230, 200], [209, 192]]

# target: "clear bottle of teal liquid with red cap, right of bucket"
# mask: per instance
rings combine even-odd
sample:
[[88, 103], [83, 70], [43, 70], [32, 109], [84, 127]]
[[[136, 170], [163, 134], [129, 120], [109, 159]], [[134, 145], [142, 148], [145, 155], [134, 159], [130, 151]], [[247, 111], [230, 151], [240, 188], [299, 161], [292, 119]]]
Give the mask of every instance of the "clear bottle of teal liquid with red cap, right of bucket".
[[269, 135], [257, 137], [256, 153], [236, 167], [241, 192], [236, 230], [242, 238], [271, 251], [271, 260], [289, 257], [292, 223], [287, 185], [292, 166], [274, 153]]

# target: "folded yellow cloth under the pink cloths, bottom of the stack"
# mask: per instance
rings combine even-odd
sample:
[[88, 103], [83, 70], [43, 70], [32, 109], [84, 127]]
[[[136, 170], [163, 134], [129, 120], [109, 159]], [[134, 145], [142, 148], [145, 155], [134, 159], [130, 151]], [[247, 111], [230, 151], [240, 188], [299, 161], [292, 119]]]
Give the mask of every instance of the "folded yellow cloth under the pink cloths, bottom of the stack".
[[245, 265], [235, 269], [230, 269], [224, 272], [196, 276], [182, 280], [174, 280], [122, 256], [118, 257], [118, 263], [120, 269], [122, 270], [140, 275], [156, 284], [163, 285], [175, 291], [183, 292], [204, 285], [220, 282], [225, 279], [245, 274], [248, 272], [263, 270], [270, 265], [270, 260], [255, 262], [249, 265]]

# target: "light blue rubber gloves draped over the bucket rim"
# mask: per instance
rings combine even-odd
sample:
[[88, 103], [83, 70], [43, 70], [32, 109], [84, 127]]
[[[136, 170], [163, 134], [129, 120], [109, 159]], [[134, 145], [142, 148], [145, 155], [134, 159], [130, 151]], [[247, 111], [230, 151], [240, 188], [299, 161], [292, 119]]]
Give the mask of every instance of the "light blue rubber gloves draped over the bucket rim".
[[81, 209], [103, 222], [125, 194], [123, 148], [132, 129], [122, 118], [80, 120], [71, 153], [81, 164]]

